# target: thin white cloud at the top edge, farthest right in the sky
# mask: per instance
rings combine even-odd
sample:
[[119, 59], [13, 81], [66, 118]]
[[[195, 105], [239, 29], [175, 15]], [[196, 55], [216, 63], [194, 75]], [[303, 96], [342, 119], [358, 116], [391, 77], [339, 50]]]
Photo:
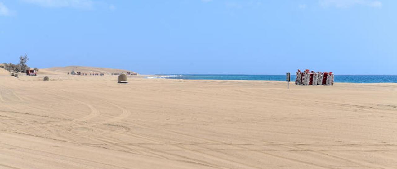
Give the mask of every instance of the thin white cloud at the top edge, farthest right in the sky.
[[382, 2], [378, 0], [320, 0], [323, 7], [349, 8], [356, 5], [368, 6], [372, 8], [381, 8]]

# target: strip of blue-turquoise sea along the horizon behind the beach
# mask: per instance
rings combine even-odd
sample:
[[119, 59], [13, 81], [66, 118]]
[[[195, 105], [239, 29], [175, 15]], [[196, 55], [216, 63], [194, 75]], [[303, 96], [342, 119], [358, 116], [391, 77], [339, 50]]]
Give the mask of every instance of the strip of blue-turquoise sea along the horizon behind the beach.
[[[162, 79], [196, 79], [196, 80], [247, 80], [247, 81], [286, 81], [285, 75], [216, 75], [216, 74], [164, 74], [156, 77]], [[296, 75], [291, 75], [295, 81]], [[337, 75], [339, 83], [397, 83], [397, 75]]]

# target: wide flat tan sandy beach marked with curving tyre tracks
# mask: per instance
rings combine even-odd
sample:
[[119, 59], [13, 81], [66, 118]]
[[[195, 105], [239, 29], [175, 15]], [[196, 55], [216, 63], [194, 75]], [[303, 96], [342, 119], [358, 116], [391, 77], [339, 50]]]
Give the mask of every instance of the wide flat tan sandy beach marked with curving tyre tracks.
[[0, 75], [1, 169], [397, 166], [397, 84], [44, 76]]

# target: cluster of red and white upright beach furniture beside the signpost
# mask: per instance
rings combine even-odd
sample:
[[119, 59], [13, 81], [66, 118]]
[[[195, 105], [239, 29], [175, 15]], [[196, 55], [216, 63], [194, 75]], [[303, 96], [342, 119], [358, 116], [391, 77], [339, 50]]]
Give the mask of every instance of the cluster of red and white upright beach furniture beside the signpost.
[[301, 70], [298, 69], [295, 85], [333, 85], [333, 73], [332, 72], [320, 72], [310, 71], [309, 69]]

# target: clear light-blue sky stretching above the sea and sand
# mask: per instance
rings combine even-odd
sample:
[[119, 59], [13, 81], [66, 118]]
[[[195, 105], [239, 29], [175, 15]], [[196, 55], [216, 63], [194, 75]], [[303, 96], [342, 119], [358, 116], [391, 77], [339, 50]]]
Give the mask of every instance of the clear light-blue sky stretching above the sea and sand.
[[0, 62], [397, 74], [396, 0], [0, 0]]

